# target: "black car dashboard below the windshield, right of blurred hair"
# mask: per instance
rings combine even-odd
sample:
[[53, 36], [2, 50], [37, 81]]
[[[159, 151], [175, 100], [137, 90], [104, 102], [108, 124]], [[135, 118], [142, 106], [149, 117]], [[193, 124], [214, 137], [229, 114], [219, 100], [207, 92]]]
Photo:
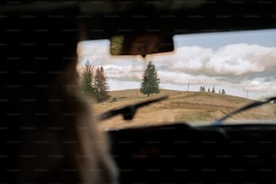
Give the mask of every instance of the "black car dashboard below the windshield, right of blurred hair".
[[273, 183], [276, 124], [109, 131], [120, 183]]

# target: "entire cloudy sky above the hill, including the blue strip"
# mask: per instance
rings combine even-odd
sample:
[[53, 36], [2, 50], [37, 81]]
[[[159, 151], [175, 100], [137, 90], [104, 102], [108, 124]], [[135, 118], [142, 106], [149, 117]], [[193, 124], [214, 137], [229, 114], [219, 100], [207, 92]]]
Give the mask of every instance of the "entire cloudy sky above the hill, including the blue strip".
[[276, 95], [276, 30], [186, 34], [174, 37], [175, 51], [110, 56], [109, 41], [78, 44], [79, 66], [103, 66], [110, 90], [139, 88], [152, 60], [161, 88], [198, 91], [200, 86], [253, 99]]

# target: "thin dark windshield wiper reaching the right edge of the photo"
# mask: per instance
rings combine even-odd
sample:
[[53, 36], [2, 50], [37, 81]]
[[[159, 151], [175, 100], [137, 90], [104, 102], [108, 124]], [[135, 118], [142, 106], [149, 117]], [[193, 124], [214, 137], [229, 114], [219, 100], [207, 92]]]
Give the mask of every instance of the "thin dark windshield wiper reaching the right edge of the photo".
[[246, 106], [243, 106], [241, 108], [238, 108], [237, 110], [219, 118], [218, 120], [216, 120], [215, 122], [213, 122], [212, 124], [213, 125], [219, 125], [219, 124], [223, 124], [225, 119], [228, 119], [229, 117], [231, 117], [232, 115], [235, 115], [235, 114], [238, 114], [238, 113], [241, 113], [245, 110], [248, 110], [248, 109], [251, 109], [251, 108], [254, 108], [254, 107], [257, 107], [257, 106], [262, 106], [262, 105], [265, 105], [265, 104], [268, 104], [270, 103], [271, 101], [274, 101], [276, 100], [276, 97], [269, 97], [269, 98], [266, 98], [264, 99], [263, 101], [254, 101], [253, 103], [249, 104], [249, 105], [246, 105]]

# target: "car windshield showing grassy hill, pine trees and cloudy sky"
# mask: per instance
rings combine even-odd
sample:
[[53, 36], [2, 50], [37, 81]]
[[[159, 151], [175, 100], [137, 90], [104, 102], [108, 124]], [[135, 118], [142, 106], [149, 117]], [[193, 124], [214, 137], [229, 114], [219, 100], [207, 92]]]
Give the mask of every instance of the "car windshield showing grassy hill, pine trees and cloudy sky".
[[[131, 121], [115, 116], [105, 130], [129, 126], [210, 124], [235, 109], [276, 96], [276, 30], [176, 35], [175, 51], [111, 56], [109, 41], [78, 44], [82, 91], [94, 99], [97, 115], [115, 107], [168, 95], [138, 110]], [[276, 102], [227, 119], [262, 123], [276, 120]]]

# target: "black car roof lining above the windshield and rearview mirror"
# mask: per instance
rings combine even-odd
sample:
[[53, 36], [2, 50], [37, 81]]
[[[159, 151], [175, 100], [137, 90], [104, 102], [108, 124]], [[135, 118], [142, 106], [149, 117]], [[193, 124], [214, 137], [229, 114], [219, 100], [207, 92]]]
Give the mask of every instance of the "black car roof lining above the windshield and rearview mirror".
[[[84, 40], [137, 32], [185, 34], [276, 28], [273, 1], [27, 1], [1, 3], [1, 14], [69, 14], [84, 24]], [[5, 5], [3, 5], [5, 4]], [[71, 16], [73, 15], [73, 16]]]

